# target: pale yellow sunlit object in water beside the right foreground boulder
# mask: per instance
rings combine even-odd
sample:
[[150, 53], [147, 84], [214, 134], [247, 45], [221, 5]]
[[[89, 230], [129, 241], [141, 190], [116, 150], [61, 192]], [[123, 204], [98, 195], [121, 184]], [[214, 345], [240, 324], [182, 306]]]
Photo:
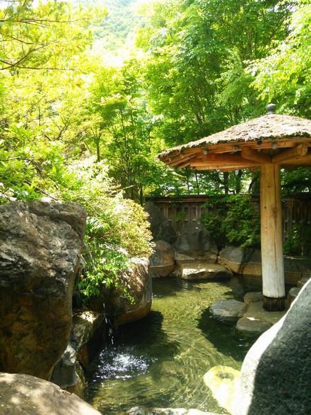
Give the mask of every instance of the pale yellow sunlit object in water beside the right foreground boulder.
[[205, 375], [205, 385], [218, 404], [230, 414], [236, 413], [239, 405], [241, 372], [229, 366], [214, 366]]

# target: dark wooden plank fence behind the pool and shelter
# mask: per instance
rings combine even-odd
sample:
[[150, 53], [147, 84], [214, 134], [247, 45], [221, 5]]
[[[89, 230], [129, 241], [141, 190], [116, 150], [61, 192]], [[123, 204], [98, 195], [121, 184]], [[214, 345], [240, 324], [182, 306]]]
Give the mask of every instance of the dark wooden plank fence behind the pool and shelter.
[[[259, 208], [259, 196], [252, 197]], [[155, 203], [176, 231], [182, 230], [189, 221], [199, 221], [202, 214], [211, 210], [208, 206], [209, 196], [155, 197], [148, 200]], [[311, 223], [311, 195], [296, 194], [284, 197], [282, 207], [283, 241], [285, 241], [292, 225]]]

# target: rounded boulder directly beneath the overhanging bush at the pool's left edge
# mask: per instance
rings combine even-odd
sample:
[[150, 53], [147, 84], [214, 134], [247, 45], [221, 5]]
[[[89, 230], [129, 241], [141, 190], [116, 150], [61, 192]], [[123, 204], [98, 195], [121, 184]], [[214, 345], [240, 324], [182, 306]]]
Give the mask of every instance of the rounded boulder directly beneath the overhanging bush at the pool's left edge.
[[140, 320], [149, 313], [152, 302], [149, 259], [133, 258], [130, 269], [120, 274], [120, 282], [133, 301], [120, 288], [102, 287], [100, 295], [92, 297], [88, 304], [93, 311], [109, 315], [115, 326]]

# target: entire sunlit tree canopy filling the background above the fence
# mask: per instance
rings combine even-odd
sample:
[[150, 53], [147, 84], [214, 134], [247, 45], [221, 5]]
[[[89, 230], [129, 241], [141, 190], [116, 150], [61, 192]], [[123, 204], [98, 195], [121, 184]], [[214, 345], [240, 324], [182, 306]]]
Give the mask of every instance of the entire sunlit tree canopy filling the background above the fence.
[[[263, 115], [271, 100], [310, 118], [307, 0], [0, 3], [1, 203], [79, 201], [103, 250], [149, 249], [126, 199], [258, 190], [256, 172], [181, 171], [158, 161], [162, 149]], [[283, 172], [283, 190], [309, 192], [310, 178]], [[115, 239], [108, 217], [122, 223]]]

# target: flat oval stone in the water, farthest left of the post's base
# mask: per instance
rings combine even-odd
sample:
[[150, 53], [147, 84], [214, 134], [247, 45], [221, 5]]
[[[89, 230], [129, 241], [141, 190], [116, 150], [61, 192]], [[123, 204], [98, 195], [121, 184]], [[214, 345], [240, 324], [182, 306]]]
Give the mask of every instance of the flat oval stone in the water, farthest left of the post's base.
[[234, 322], [246, 311], [247, 304], [236, 299], [218, 299], [209, 308], [211, 315], [222, 322]]

